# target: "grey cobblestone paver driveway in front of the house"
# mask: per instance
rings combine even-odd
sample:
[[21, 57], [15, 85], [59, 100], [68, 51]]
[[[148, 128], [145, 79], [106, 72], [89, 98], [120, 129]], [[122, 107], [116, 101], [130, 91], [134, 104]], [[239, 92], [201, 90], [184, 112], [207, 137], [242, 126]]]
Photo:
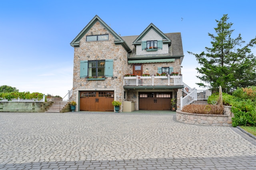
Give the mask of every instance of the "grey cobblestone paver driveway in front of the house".
[[256, 169], [255, 140], [237, 128], [174, 117], [0, 113], [0, 169]]

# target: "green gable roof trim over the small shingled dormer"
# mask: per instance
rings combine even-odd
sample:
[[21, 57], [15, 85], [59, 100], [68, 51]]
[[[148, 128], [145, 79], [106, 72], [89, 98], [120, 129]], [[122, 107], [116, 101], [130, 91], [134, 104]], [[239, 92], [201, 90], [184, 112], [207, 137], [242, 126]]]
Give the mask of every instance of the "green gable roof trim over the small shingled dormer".
[[149, 26], [136, 38], [133, 42], [133, 44], [136, 46], [136, 44], [141, 44], [141, 39], [144, 37], [145, 34], [149, 32], [149, 30], [154, 29], [160, 36], [163, 38], [163, 43], [171, 44], [170, 38], [168, 38], [162, 31], [160, 31], [154, 24], [149, 24]]

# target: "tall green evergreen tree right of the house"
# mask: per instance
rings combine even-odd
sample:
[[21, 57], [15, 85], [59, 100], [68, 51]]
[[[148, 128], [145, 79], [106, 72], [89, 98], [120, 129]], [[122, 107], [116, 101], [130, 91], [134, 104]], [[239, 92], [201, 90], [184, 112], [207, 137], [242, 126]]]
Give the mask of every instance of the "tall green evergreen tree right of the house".
[[195, 55], [201, 65], [196, 68], [200, 73], [196, 77], [201, 80], [197, 85], [213, 90], [221, 86], [222, 91], [232, 93], [237, 87], [256, 85], [256, 57], [250, 49], [255, 46], [256, 37], [242, 47], [245, 42], [241, 34], [231, 38], [234, 30], [230, 29], [233, 24], [227, 23], [228, 19], [228, 14], [224, 14], [220, 21], [216, 20], [216, 35], [208, 33], [212, 47], [205, 47], [206, 53], [188, 53]]

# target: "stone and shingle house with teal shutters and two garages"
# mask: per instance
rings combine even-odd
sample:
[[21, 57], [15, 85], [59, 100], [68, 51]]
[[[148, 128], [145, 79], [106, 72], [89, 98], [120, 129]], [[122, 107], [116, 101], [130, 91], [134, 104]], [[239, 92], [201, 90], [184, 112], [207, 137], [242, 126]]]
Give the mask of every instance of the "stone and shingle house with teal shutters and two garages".
[[132, 101], [135, 110], [171, 110], [177, 99], [180, 108], [180, 33], [150, 24], [139, 36], [121, 37], [96, 15], [70, 45], [76, 111], [114, 111], [113, 100]]

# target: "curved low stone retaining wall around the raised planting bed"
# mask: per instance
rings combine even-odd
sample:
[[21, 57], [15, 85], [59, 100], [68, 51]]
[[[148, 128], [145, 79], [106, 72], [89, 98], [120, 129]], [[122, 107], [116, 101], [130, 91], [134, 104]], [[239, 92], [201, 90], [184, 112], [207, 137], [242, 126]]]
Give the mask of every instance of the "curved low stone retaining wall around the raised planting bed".
[[176, 120], [182, 123], [193, 125], [211, 125], [211, 126], [232, 126], [231, 118], [234, 114], [231, 112], [230, 106], [224, 106], [224, 115], [204, 115], [195, 113], [186, 113], [176, 111]]

